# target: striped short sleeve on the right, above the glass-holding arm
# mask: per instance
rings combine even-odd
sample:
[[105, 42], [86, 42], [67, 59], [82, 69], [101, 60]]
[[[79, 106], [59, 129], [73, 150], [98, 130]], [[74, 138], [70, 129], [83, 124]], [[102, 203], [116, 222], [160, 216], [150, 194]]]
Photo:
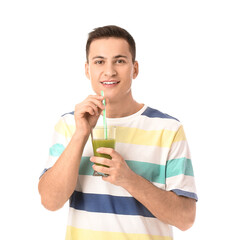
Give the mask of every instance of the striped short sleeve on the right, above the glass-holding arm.
[[168, 154], [166, 190], [198, 200], [190, 150], [183, 126], [177, 130]]

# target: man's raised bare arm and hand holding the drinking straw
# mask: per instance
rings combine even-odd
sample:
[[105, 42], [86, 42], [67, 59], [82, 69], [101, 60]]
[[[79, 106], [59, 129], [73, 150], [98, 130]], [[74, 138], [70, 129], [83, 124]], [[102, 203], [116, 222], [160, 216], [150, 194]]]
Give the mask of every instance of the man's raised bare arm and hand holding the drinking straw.
[[102, 100], [102, 96], [94, 95], [76, 105], [75, 133], [53, 167], [39, 181], [41, 202], [51, 211], [61, 208], [75, 190], [84, 146], [104, 109]]

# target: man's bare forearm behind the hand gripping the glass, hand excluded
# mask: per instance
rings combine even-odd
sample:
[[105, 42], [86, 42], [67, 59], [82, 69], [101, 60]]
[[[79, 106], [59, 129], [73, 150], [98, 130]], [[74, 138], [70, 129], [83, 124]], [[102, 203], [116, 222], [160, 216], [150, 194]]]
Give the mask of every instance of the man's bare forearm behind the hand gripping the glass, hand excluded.
[[162, 190], [135, 173], [123, 187], [161, 221], [183, 231], [192, 226], [196, 212], [194, 199]]

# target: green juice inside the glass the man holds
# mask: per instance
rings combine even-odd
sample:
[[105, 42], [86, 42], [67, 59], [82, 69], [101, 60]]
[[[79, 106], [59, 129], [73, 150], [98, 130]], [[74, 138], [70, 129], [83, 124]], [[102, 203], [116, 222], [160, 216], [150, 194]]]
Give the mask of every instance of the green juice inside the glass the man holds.
[[[94, 156], [96, 157], [103, 157], [103, 158], [108, 158], [112, 159], [112, 157], [108, 154], [103, 154], [103, 153], [98, 153], [96, 150], [100, 147], [106, 147], [106, 148], [115, 148], [115, 139], [94, 139], [92, 140], [92, 146], [93, 146], [93, 151], [94, 151]], [[105, 166], [102, 164], [97, 164], [100, 166]], [[107, 166], [105, 166], [107, 167]]]

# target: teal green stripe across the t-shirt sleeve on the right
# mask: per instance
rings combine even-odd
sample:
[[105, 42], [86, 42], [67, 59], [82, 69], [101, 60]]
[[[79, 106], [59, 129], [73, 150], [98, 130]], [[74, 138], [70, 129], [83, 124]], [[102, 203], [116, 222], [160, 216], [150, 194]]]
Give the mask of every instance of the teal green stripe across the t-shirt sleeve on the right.
[[177, 158], [167, 162], [166, 177], [174, 177], [180, 174], [194, 176], [192, 162], [188, 158]]

